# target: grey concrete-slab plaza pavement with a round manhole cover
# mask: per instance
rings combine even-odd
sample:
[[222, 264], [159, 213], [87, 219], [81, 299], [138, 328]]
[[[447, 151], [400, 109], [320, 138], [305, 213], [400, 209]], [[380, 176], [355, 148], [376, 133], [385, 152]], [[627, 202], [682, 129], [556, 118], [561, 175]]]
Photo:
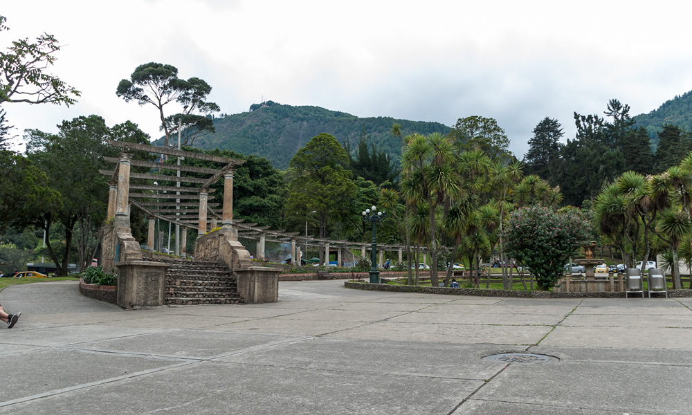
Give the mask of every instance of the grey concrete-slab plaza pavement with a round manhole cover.
[[[504, 299], [282, 282], [123, 311], [0, 292], [0, 414], [690, 414], [692, 299]], [[499, 353], [522, 353], [499, 360]], [[540, 356], [529, 356], [533, 353]]]

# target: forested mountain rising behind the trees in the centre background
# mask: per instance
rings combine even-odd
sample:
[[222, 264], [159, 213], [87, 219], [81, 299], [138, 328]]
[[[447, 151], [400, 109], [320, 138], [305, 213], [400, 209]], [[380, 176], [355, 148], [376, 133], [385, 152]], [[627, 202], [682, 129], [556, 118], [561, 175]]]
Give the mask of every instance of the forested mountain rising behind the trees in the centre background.
[[[286, 169], [298, 149], [319, 133], [329, 133], [342, 143], [349, 140], [354, 149], [358, 148], [358, 140], [365, 133], [368, 143], [375, 143], [379, 149], [398, 158], [401, 140], [390, 132], [395, 122], [401, 125], [404, 136], [450, 131], [450, 127], [439, 122], [358, 118], [320, 107], [293, 107], [272, 101], [253, 104], [250, 109], [246, 113], [215, 118], [216, 132], [197, 138], [193, 147], [257, 154], [266, 157], [277, 169]], [[163, 145], [163, 140], [158, 141], [156, 145]]]

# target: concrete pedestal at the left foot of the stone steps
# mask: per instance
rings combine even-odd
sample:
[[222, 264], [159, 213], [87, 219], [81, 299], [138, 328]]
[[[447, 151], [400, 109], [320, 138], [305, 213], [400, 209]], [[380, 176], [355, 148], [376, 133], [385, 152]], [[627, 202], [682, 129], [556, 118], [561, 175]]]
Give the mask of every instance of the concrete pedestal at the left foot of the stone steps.
[[170, 264], [127, 261], [118, 268], [118, 306], [122, 308], [163, 306], [166, 270]]

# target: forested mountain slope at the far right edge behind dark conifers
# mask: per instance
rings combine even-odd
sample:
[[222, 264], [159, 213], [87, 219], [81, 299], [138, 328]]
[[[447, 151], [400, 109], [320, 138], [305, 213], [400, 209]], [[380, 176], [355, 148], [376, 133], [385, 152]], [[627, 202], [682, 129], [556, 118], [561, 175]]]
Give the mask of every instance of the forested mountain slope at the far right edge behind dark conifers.
[[651, 138], [654, 149], [658, 147], [657, 133], [663, 131], [664, 124], [673, 124], [684, 131], [692, 131], [692, 91], [664, 102], [658, 109], [648, 114], [632, 117], [635, 128], [644, 127]]

